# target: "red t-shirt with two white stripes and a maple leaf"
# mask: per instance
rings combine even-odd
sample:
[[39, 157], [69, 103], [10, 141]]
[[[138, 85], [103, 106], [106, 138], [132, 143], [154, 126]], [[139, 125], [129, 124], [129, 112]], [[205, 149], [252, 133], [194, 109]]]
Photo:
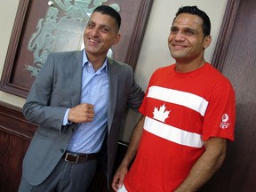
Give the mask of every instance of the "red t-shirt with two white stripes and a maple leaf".
[[146, 116], [129, 192], [171, 192], [186, 179], [210, 137], [234, 140], [235, 92], [209, 63], [189, 73], [175, 65], [151, 76], [140, 106]]

